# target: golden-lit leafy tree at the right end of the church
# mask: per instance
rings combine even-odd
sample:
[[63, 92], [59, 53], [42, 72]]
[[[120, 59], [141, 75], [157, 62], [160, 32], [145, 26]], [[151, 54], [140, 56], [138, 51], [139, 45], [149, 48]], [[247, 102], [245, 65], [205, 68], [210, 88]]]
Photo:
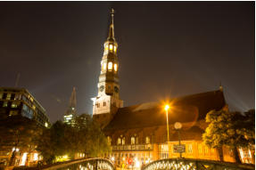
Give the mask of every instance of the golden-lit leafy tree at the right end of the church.
[[227, 109], [211, 110], [206, 116], [209, 125], [202, 134], [202, 139], [210, 147], [219, 150], [221, 161], [222, 146], [227, 146], [233, 150], [235, 162], [241, 163], [237, 149], [252, 145], [255, 139], [255, 123], [252, 123], [252, 117], [252, 112], [243, 115], [240, 112], [229, 112]]

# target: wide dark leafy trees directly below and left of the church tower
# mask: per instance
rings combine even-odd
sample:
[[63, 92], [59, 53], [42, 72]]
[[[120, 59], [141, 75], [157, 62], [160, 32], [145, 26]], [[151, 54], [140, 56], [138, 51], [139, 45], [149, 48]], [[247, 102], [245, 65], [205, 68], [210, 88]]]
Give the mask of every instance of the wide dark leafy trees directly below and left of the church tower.
[[50, 129], [45, 129], [43, 137], [38, 139], [37, 150], [47, 163], [52, 163], [63, 155], [74, 158], [76, 153], [97, 157], [109, 151], [110, 146], [92, 117], [83, 114], [76, 117], [74, 125], [57, 121]]

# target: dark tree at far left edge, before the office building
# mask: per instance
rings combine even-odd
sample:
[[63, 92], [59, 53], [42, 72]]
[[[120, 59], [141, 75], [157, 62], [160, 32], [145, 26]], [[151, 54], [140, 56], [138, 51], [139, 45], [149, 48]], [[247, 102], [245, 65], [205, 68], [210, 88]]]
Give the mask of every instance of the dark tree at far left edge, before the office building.
[[0, 139], [1, 150], [12, 150], [9, 166], [14, 165], [17, 149], [29, 150], [35, 148], [34, 138], [39, 135], [39, 127], [35, 120], [27, 117], [12, 116], [0, 119]]

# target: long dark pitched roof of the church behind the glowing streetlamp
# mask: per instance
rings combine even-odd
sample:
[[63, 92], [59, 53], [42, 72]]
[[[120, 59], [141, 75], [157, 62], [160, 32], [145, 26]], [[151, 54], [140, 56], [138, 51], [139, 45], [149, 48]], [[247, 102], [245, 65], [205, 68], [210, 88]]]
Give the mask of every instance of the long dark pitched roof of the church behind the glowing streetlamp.
[[[211, 109], [226, 104], [222, 91], [196, 93], [171, 100], [169, 124], [196, 122], [205, 118]], [[104, 131], [166, 125], [166, 114], [160, 102], [143, 103], [120, 108]]]

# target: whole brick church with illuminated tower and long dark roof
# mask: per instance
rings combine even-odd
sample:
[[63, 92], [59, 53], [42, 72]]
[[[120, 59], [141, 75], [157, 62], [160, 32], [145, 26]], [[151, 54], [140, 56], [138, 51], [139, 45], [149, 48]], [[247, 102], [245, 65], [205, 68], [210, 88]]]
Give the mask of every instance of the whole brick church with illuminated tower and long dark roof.
[[[178, 158], [174, 150], [178, 144], [178, 131], [174, 123], [180, 122], [181, 143], [185, 145], [184, 158], [218, 160], [219, 153], [202, 142], [207, 127], [206, 114], [212, 109], [226, 107], [223, 89], [186, 95], [172, 99], [169, 109], [169, 144], [167, 117], [161, 103], [143, 103], [123, 107], [120, 100], [118, 44], [114, 37], [113, 12], [109, 36], [104, 43], [98, 95], [93, 98], [93, 118], [103, 128], [112, 151], [107, 157], [116, 164], [127, 164], [130, 159], [146, 164], [160, 158]], [[232, 152], [223, 149], [225, 161], [235, 161]]]

